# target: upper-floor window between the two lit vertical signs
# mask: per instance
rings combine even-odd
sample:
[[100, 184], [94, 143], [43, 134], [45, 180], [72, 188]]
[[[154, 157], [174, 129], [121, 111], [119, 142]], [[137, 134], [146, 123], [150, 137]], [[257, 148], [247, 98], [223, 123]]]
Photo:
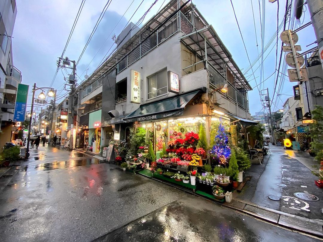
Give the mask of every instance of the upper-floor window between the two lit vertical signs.
[[167, 89], [167, 69], [148, 77], [148, 99], [166, 94]]

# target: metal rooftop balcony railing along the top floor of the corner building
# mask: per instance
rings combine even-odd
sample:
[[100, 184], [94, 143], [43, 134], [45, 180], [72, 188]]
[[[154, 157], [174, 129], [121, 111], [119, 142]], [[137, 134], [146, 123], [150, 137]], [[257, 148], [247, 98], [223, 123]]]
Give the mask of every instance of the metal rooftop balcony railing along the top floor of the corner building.
[[192, 23], [182, 14], [178, 12], [177, 15], [170, 18], [166, 23], [155, 30], [148, 38], [139, 38], [139, 45], [132, 49], [126, 56], [124, 56], [117, 64], [117, 74], [128, 68], [135, 61], [141, 59], [148, 52], [168, 38], [172, 37], [177, 32], [182, 31], [185, 34], [193, 32]]

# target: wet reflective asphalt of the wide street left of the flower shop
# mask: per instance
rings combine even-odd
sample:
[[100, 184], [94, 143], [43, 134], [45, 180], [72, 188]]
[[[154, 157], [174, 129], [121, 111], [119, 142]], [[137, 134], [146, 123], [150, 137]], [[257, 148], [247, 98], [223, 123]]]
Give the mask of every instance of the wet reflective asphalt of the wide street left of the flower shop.
[[2, 241], [316, 241], [56, 149], [0, 179]]

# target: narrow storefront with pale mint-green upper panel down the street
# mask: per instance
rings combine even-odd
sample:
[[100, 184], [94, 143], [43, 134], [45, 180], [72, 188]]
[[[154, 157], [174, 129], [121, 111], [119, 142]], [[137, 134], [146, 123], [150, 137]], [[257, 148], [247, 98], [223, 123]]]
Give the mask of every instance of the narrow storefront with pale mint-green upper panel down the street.
[[101, 110], [89, 114], [89, 144], [93, 145], [92, 151], [94, 153], [100, 153]]

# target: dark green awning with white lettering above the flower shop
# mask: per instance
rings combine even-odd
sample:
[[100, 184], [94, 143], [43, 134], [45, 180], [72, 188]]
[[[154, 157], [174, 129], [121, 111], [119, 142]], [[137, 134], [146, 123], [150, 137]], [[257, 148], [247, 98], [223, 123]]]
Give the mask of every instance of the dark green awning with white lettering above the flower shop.
[[170, 98], [141, 105], [137, 110], [123, 118], [124, 121], [153, 121], [171, 118], [183, 114], [183, 110], [196, 94], [205, 92], [205, 88], [185, 92]]

